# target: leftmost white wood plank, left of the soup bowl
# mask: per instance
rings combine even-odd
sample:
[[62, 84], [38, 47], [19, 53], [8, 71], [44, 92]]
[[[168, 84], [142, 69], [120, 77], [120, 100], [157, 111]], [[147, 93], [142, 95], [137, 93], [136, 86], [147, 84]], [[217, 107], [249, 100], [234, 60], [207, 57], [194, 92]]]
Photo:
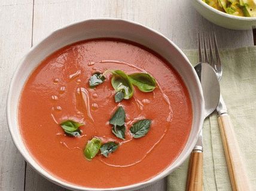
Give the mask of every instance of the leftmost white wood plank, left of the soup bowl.
[[23, 190], [25, 161], [11, 140], [5, 116], [7, 93], [19, 60], [31, 47], [32, 0], [0, 2], [0, 190]]

